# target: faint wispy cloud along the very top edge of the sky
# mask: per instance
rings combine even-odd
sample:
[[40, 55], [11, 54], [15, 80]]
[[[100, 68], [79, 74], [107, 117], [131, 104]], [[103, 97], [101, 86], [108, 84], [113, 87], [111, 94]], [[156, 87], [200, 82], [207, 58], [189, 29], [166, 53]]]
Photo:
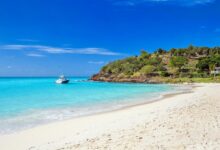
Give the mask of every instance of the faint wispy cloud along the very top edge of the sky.
[[214, 2], [215, 0], [113, 0], [114, 5], [135, 6], [144, 3], [156, 4], [175, 4], [183, 6], [204, 5]]

